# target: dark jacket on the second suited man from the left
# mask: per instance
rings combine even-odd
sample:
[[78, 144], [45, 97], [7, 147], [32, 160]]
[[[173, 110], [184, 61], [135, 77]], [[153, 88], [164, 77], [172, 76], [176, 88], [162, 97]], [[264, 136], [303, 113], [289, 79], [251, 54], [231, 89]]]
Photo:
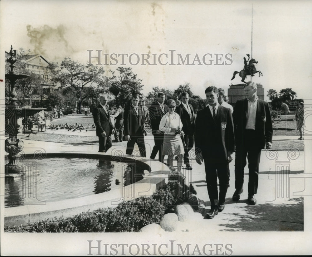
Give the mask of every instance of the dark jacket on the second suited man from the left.
[[125, 136], [135, 136], [143, 135], [143, 115], [142, 108], [138, 106], [138, 112], [134, 109], [134, 106], [131, 105], [124, 111], [124, 135]]

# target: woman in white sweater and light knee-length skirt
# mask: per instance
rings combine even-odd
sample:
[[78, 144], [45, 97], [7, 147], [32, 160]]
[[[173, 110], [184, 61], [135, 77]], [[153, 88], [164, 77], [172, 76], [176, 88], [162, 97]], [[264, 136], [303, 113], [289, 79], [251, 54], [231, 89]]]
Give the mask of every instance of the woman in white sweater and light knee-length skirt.
[[167, 164], [173, 167], [174, 156], [178, 156], [178, 171], [181, 171], [184, 147], [181, 140], [182, 122], [179, 114], [175, 112], [176, 103], [173, 99], [167, 101], [169, 112], [167, 112], [160, 120], [159, 130], [163, 131], [163, 155], [168, 156]]

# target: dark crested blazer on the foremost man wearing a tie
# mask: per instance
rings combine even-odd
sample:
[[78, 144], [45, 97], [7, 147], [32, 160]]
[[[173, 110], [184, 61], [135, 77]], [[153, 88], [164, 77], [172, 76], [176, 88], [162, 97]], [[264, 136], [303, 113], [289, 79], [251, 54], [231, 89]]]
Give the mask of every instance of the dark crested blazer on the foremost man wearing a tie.
[[197, 112], [195, 127], [195, 151], [203, 158], [225, 161], [227, 151], [235, 152], [235, 137], [231, 110], [219, 105], [216, 118], [212, 118], [209, 106]]

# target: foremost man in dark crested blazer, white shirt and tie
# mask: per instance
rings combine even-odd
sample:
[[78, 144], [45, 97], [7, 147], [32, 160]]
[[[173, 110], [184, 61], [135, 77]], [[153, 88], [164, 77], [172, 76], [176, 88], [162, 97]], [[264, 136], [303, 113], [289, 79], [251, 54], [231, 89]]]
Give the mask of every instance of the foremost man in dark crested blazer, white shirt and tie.
[[[197, 112], [195, 127], [196, 162], [205, 164], [207, 190], [211, 210], [207, 218], [213, 218], [225, 206], [229, 183], [227, 165], [235, 152], [233, 119], [230, 109], [218, 104], [218, 89], [210, 86], [205, 90], [208, 105]], [[220, 192], [218, 197], [217, 177]]]

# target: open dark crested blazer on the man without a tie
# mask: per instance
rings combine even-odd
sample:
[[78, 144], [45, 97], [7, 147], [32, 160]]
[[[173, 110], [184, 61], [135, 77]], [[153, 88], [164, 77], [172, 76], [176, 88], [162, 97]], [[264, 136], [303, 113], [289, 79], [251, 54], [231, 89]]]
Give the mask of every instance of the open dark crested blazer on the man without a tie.
[[[241, 145], [245, 140], [244, 130], [246, 128], [247, 112], [248, 99], [238, 100], [233, 112], [236, 144]], [[259, 98], [256, 111], [256, 134], [256, 147], [264, 149], [266, 142], [272, 143], [273, 128], [269, 104]]]

